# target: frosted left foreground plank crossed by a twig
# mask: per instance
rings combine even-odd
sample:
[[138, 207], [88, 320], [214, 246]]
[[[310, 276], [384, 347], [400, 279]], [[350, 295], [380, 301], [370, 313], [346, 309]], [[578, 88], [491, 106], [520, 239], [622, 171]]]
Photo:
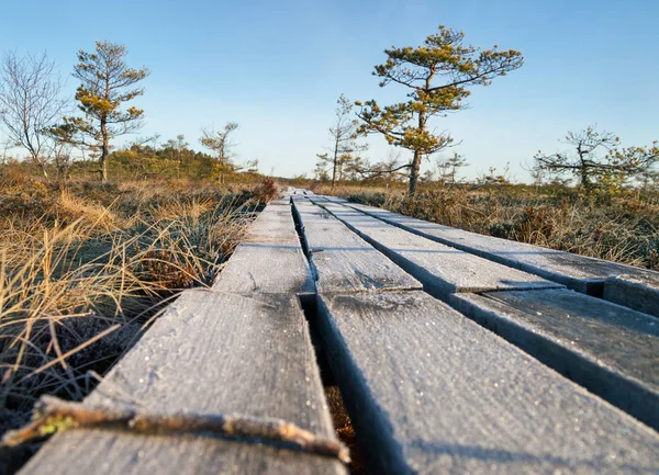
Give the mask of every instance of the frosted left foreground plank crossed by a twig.
[[[332, 421], [294, 296], [187, 291], [88, 398], [155, 411], [239, 412], [324, 437]], [[339, 462], [248, 441], [75, 430], [23, 474], [345, 473]]]

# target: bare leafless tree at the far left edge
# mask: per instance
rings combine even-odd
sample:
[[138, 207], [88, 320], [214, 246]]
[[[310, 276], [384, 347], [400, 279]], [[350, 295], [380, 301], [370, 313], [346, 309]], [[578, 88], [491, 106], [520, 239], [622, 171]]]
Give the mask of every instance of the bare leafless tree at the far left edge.
[[23, 58], [8, 53], [2, 59], [0, 123], [12, 144], [25, 148], [46, 178], [46, 166], [54, 152], [46, 132], [66, 111], [67, 101], [60, 97], [63, 87], [55, 63], [45, 53]]

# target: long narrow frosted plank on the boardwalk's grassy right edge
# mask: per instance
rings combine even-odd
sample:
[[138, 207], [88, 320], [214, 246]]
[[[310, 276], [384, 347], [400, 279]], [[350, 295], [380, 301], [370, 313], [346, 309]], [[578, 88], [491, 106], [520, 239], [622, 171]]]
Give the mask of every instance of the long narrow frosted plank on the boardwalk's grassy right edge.
[[355, 203], [347, 205], [437, 242], [540, 275], [590, 295], [601, 296], [604, 280], [611, 275], [623, 273], [636, 275], [639, 272], [639, 269], [630, 265], [500, 239], [492, 236], [483, 236], [372, 206]]

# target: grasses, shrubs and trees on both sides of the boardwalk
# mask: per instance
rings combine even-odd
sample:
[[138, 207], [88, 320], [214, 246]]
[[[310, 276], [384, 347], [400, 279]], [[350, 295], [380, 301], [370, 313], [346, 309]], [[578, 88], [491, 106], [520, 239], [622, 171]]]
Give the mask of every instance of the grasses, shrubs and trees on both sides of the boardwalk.
[[[292, 184], [659, 270], [657, 143], [623, 147], [584, 124], [566, 132], [562, 151], [529, 157], [533, 184], [512, 183], [507, 166], [494, 165], [467, 183], [469, 157], [448, 152], [454, 138], [435, 132], [440, 117], [463, 109], [471, 89], [523, 67], [522, 53], [481, 49], [439, 26], [421, 46], [384, 55], [373, 76], [401, 102], [342, 94], [315, 177]], [[126, 48], [110, 42], [76, 59], [72, 98], [46, 55], [8, 54], [0, 64], [0, 433], [43, 393], [83, 397], [170, 298], [213, 282], [277, 194], [257, 158], [239, 159], [232, 121], [202, 127], [198, 144], [133, 135], [120, 146], [143, 125], [133, 101], [150, 71], [129, 66]], [[371, 161], [367, 135], [383, 137], [389, 155]], [[422, 172], [424, 159], [435, 163]], [[4, 462], [12, 457], [22, 460]]]

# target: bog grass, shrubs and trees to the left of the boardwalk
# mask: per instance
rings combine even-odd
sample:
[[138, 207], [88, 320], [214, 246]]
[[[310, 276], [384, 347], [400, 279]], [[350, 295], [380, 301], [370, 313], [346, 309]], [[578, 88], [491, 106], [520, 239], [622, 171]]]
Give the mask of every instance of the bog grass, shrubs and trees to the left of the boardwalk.
[[[139, 129], [146, 68], [123, 45], [80, 50], [79, 114], [43, 56], [0, 70], [0, 434], [40, 395], [80, 400], [181, 291], [209, 286], [278, 189], [237, 160], [235, 123], [183, 135]], [[22, 158], [18, 158], [19, 150]], [[0, 473], [34, 446], [0, 448]]]

